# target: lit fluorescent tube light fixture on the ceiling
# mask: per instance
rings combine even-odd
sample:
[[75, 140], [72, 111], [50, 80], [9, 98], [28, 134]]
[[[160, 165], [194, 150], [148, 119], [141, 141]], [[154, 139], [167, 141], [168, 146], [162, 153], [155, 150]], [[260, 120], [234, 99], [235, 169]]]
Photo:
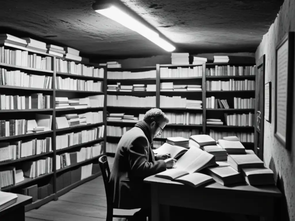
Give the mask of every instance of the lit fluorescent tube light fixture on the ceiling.
[[109, 7], [97, 9], [95, 11], [141, 34], [143, 37], [149, 39], [151, 42], [155, 43], [168, 52], [172, 52], [175, 50], [175, 47], [166, 40], [160, 38], [157, 32], [137, 21], [126, 12], [119, 9], [117, 6], [110, 5]]

